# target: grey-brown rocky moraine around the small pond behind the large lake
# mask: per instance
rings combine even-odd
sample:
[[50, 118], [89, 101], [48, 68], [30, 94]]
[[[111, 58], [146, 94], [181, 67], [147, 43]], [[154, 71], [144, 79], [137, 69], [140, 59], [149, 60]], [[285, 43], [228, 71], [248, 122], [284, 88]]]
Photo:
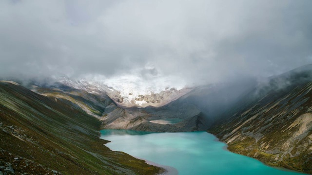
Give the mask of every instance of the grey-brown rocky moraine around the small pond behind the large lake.
[[[163, 110], [159, 108], [128, 108], [124, 109], [115, 104], [107, 106], [103, 117], [104, 129], [130, 129], [150, 132], [187, 132], [205, 130], [202, 123], [204, 117], [195, 107], [185, 109], [188, 113], [177, 115], [179, 111]], [[177, 123], [155, 123], [155, 120], [180, 119]]]

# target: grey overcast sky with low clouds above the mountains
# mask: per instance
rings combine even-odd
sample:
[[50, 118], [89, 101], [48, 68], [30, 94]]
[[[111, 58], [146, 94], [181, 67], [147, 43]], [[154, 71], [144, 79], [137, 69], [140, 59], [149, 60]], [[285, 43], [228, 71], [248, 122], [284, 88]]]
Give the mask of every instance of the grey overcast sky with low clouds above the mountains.
[[312, 0], [1, 0], [1, 77], [194, 86], [312, 63]]

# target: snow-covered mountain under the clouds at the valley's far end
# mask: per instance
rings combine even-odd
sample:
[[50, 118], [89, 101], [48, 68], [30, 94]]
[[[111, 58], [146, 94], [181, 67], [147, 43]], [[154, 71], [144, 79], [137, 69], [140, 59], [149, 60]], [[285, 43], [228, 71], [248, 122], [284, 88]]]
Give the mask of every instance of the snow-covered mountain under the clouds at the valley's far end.
[[122, 86], [113, 88], [104, 82], [90, 81], [87, 79], [71, 80], [69, 78], [58, 80], [57, 83], [98, 95], [107, 94], [118, 105], [126, 107], [158, 107], [166, 105], [192, 90], [192, 88], [177, 89], [169, 87], [163, 89], [148, 87], [142, 90], [142, 88], [137, 89], [131, 86], [131, 84], [123, 84]]

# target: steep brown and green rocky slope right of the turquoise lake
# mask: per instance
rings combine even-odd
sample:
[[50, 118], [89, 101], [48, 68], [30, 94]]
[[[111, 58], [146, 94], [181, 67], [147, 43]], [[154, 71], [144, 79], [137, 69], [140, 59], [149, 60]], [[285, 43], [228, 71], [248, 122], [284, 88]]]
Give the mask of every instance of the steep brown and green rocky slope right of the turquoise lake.
[[208, 131], [230, 151], [312, 174], [312, 66], [272, 77]]

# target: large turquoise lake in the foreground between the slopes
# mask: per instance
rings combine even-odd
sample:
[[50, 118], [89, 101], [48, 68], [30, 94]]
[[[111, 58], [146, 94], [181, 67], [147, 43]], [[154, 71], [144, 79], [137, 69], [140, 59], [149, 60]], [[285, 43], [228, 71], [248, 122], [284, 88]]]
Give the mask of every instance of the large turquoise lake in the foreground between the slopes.
[[225, 149], [226, 144], [207, 132], [148, 133], [102, 130], [111, 150], [174, 167], [179, 175], [303, 175], [279, 170]]

